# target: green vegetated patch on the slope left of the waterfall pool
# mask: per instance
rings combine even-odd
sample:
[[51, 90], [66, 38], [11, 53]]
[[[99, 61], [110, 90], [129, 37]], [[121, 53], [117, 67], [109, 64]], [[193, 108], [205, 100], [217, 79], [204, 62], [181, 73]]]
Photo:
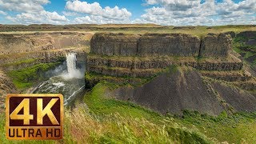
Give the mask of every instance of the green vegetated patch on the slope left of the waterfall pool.
[[26, 67], [22, 70], [12, 70], [7, 75], [12, 78], [14, 85], [24, 90], [33, 85], [34, 82], [43, 80], [43, 72], [50, 70], [54, 66], [59, 65], [61, 62], [54, 63], [41, 63], [35, 66]]

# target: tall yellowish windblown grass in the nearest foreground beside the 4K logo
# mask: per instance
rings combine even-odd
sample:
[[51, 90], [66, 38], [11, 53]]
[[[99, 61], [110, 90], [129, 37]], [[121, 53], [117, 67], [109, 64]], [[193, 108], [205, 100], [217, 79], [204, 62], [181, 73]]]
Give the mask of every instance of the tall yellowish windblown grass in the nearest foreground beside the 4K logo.
[[179, 126], [172, 118], [158, 124], [146, 118], [121, 114], [90, 114], [85, 106], [66, 110], [64, 138], [61, 141], [8, 141], [5, 118], [0, 114], [2, 143], [209, 143], [204, 136]]

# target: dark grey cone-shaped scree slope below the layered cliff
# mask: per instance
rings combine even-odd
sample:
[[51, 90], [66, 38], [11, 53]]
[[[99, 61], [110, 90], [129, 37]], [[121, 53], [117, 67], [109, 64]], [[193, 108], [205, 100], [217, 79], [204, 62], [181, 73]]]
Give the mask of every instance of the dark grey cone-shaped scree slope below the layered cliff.
[[256, 110], [256, 98], [220, 83], [206, 82], [195, 70], [177, 70], [161, 74], [138, 88], [121, 87], [113, 92], [121, 100], [130, 100], [162, 114], [182, 114], [198, 110], [220, 114], [223, 110]]

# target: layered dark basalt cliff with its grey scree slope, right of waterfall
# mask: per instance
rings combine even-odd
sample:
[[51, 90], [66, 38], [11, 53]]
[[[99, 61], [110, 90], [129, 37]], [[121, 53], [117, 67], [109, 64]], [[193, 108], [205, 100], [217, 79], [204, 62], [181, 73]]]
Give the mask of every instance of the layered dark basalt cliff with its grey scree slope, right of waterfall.
[[120, 86], [110, 90], [114, 98], [162, 114], [254, 111], [254, 71], [234, 52], [235, 37], [96, 33], [86, 57], [86, 86], [113, 82]]

